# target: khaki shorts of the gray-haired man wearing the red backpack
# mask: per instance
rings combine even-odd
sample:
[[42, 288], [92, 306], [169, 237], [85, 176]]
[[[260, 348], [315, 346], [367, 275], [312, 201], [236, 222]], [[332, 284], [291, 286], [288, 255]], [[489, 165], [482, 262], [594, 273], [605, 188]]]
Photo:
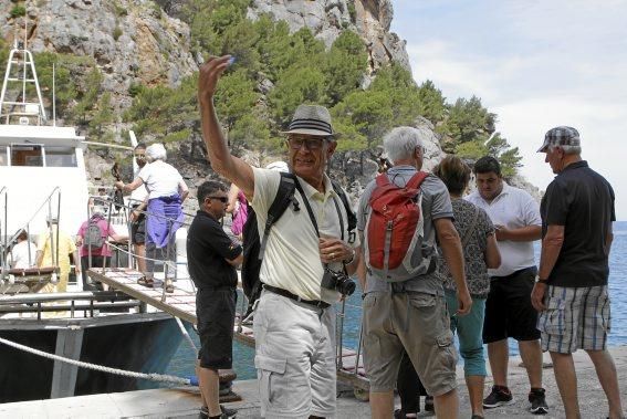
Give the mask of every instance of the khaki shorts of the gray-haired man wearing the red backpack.
[[457, 388], [457, 352], [442, 296], [372, 292], [364, 298], [363, 322], [370, 391], [394, 389], [404, 348], [429, 395]]

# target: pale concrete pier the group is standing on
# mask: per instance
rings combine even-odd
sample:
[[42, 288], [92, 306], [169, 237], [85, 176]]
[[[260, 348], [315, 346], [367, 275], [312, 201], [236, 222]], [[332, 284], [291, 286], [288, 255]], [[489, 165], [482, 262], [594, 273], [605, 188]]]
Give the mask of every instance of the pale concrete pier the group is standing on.
[[[623, 395], [627, 404], [627, 346], [610, 348]], [[583, 418], [607, 417], [605, 394], [596, 378], [593, 364], [587, 355], [579, 350], [574, 355], [577, 369], [579, 405]], [[529, 381], [526, 373], [520, 366], [520, 357], [510, 360], [510, 388], [515, 402], [502, 408], [485, 410], [485, 418], [534, 418], [527, 412]], [[458, 368], [459, 391], [461, 396], [461, 418], [470, 418], [468, 391], [463, 381], [463, 370]], [[485, 383], [485, 395], [492, 386], [491, 377]], [[550, 406], [545, 418], [564, 418], [564, 408], [560, 399], [553, 369], [544, 369], [544, 386]], [[238, 418], [259, 418], [259, 400], [254, 380], [236, 381], [233, 390], [240, 394], [242, 401], [227, 406], [239, 409]], [[398, 400], [397, 400], [398, 405]], [[186, 418], [198, 417], [200, 397], [198, 388], [173, 388], [143, 391], [116, 392], [96, 396], [59, 398], [0, 405], [0, 418]], [[421, 412], [419, 417], [431, 416]], [[367, 402], [355, 399], [352, 388], [339, 386], [337, 397], [337, 418], [368, 418], [370, 410]]]

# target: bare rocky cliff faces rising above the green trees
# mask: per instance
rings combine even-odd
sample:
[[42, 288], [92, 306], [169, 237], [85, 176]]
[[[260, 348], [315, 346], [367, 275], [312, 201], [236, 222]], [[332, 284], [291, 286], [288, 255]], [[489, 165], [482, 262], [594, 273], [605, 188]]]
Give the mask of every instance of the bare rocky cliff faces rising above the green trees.
[[[188, 25], [177, 19], [185, 0], [46, 0], [25, 2], [25, 17], [11, 18], [15, 3], [0, 2], [0, 33], [12, 44], [24, 38], [33, 52], [90, 56], [104, 74], [117, 106], [130, 104], [133, 84], [176, 86], [198, 69]], [[368, 45], [369, 66], [396, 61], [409, 67], [405, 41], [389, 32], [390, 0], [254, 0], [251, 19], [269, 13], [296, 31], [309, 27], [330, 46], [354, 29]]]

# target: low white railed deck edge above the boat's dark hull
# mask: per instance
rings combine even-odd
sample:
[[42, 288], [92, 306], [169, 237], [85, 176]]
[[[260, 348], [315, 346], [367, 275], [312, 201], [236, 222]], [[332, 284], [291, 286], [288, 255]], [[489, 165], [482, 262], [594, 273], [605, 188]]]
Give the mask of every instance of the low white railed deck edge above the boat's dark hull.
[[136, 308], [144, 312], [144, 305], [128, 295], [115, 291], [83, 291], [65, 293], [27, 293], [0, 296], [0, 316], [7, 313], [34, 313], [36, 320], [45, 312], [66, 312], [63, 318], [94, 317], [100, 312], [128, 313]]

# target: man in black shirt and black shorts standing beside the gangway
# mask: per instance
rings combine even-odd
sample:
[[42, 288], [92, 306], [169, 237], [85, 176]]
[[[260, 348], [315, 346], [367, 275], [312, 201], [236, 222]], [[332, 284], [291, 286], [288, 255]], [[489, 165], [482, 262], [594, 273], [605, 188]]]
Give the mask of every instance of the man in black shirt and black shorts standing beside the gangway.
[[198, 292], [196, 316], [200, 350], [198, 381], [205, 407], [201, 416], [229, 418], [219, 405], [218, 369], [232, 367], [233, 326], [236, 317], [236, 266], [242, 262], [241, 245], [233, 243], [219, 220], [227, 208], [227, 187], [206, 181], [198, 188], [200, 210], [187, 234], [188, 269]]

